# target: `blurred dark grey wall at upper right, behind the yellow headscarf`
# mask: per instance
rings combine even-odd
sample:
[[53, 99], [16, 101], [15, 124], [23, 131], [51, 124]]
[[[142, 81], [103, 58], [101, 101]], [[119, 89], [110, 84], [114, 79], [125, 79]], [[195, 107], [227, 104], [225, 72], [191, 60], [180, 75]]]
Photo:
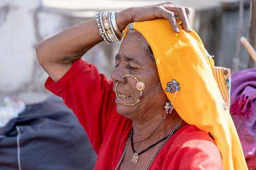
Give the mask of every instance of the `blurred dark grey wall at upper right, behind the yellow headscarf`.
[[[249, 36], [249, 1], [244, 2], [242, 36]], [[233, 58], [236, 56], [239, 34], [238, 3], [223, 4], [222, 7], [201, 10], [197, 12], [197, 32], [209, 54], [215, 56], [216, 66], [230, 68], [232, 71]], [[247, 68], [247, 50], [240, 43], [239, 70]]]

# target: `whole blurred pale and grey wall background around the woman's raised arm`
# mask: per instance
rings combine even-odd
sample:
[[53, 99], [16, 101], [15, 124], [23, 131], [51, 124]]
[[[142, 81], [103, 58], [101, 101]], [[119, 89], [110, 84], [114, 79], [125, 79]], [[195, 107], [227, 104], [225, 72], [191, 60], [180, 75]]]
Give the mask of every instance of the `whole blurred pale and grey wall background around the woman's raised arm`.
[[[44, 89], [47, 74], [37, 62], [36, 45], [79, 22], [95, 18], [96, 13], [121, 11], [129, 7], [155, 5], [166, 1], [117, 0], [0, 0], [0, 106], [5, 96], [26, 103], [37, 103], [51, 95]], [[201, 37], [216, 66], [238, 70], [255, 67], [240, 43], [249, 37], [250, 0], [243, 8], [235, 0], [172, 1], [193, 10], [192, 28]], [[242, 11], [241, 11], [242, 10]], [[239, 21], [242, 18], [242, 23]], [[239, 26], [240, 29], [239, 29]], [[239, 32], [240, 30], [240, 32]], [[238, 44], [239, 43], [239, 44]], [[120, 43], [106, 42], [91, 49], [83, 59], [95, 64], [110, 79], [114, 56]], [[255, 48], [255, 47], [254, 47]]]

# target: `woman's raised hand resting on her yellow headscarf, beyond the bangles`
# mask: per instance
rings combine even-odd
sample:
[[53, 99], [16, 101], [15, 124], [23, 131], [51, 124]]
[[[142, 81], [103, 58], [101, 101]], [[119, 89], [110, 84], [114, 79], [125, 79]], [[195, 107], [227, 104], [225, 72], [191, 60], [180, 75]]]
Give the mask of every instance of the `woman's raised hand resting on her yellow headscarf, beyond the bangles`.
[[173, 3], [129, 8], [127, 10], [117, 13], [116, 15], [117, 20], [120, 22], [120, 30], [123, 30], [129, 23], [150, 21], [157, 18], [165, 18], [168, 19], [170, 26], [176, 33], [179, 33], [180, 31], [175, 17], [180, 18], [182, 26], [186, 32], [191, 32], [191, 16], [192, 12], [190, 8], [179, 6]]

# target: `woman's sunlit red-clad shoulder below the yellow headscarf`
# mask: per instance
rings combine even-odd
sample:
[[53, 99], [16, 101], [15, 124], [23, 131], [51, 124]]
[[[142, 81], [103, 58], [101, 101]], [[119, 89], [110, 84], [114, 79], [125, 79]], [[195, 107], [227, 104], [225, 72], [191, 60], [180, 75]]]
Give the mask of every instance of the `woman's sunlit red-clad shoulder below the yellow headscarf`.
[[181, 127], [172, 140], [166, 143], [165, 149], [166, 159], [169, 159], [167, 162], [174, 166], [173, 169], [223, 169], [215, 141], [194, 125]]

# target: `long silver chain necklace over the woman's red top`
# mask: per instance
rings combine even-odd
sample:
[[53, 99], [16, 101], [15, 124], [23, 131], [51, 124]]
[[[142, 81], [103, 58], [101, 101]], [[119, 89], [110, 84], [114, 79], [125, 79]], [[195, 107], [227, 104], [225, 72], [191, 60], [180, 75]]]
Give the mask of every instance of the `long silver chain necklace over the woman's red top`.
[[[153, 158], [151, 159], [150, 163], [147, 165], [146, 170], [149, 169], [149, 167], [150, 167], [151, 164], [153, 163], [155, 157], [157, 156], [157, 154], [158, 154], [159, 151], [161, 150], [162, 146], [163, 146], [163, 145], [168, 141], [168, 139], [174, 134], [175, 130], [178, 128], [178, 126], [180, 125], [180, 123], [182, 122], [182, 120], [183, 120], [183, 119], [181, 118], [181, 119], [178, 121], [178, 123], [175, 125], [174, 129], [172, 130], [172, 132], [170, 132], [170, 134], [167, 136], [167, 138], [166, 138], [166, 139], [162, 142], [162, 144], [158, 147], [158, 149], [156, 150], [156, 152], [155, 152]], [[131, 134], [131, 133], [130, 133], [130, 134]], [[123, 160], [123, 158], [124, 158], [125, 149], [126, 149], [126, 146], [127, 146], [127, 143], [128, 143], [128, 141], [129, 141], [129, 139], [130, 139], [130, 135], [129, 135], [128, 140], [127, 140], [127, 142], [126, 142], [126, 144], [125, 144], [124, 151], [123, 151], [123, 153], [122, 153], [122, 156], [121, 156], [121, 158], [120, 158], [120, 160], [119, 160], [119, 162], [118, 162], [118, 164], [117, 164], [115, 170], [118, 169], [118, 167], [120, 166], [120, 164], [121, 164], [121, 162], [122, 162], [122, 160]]]

